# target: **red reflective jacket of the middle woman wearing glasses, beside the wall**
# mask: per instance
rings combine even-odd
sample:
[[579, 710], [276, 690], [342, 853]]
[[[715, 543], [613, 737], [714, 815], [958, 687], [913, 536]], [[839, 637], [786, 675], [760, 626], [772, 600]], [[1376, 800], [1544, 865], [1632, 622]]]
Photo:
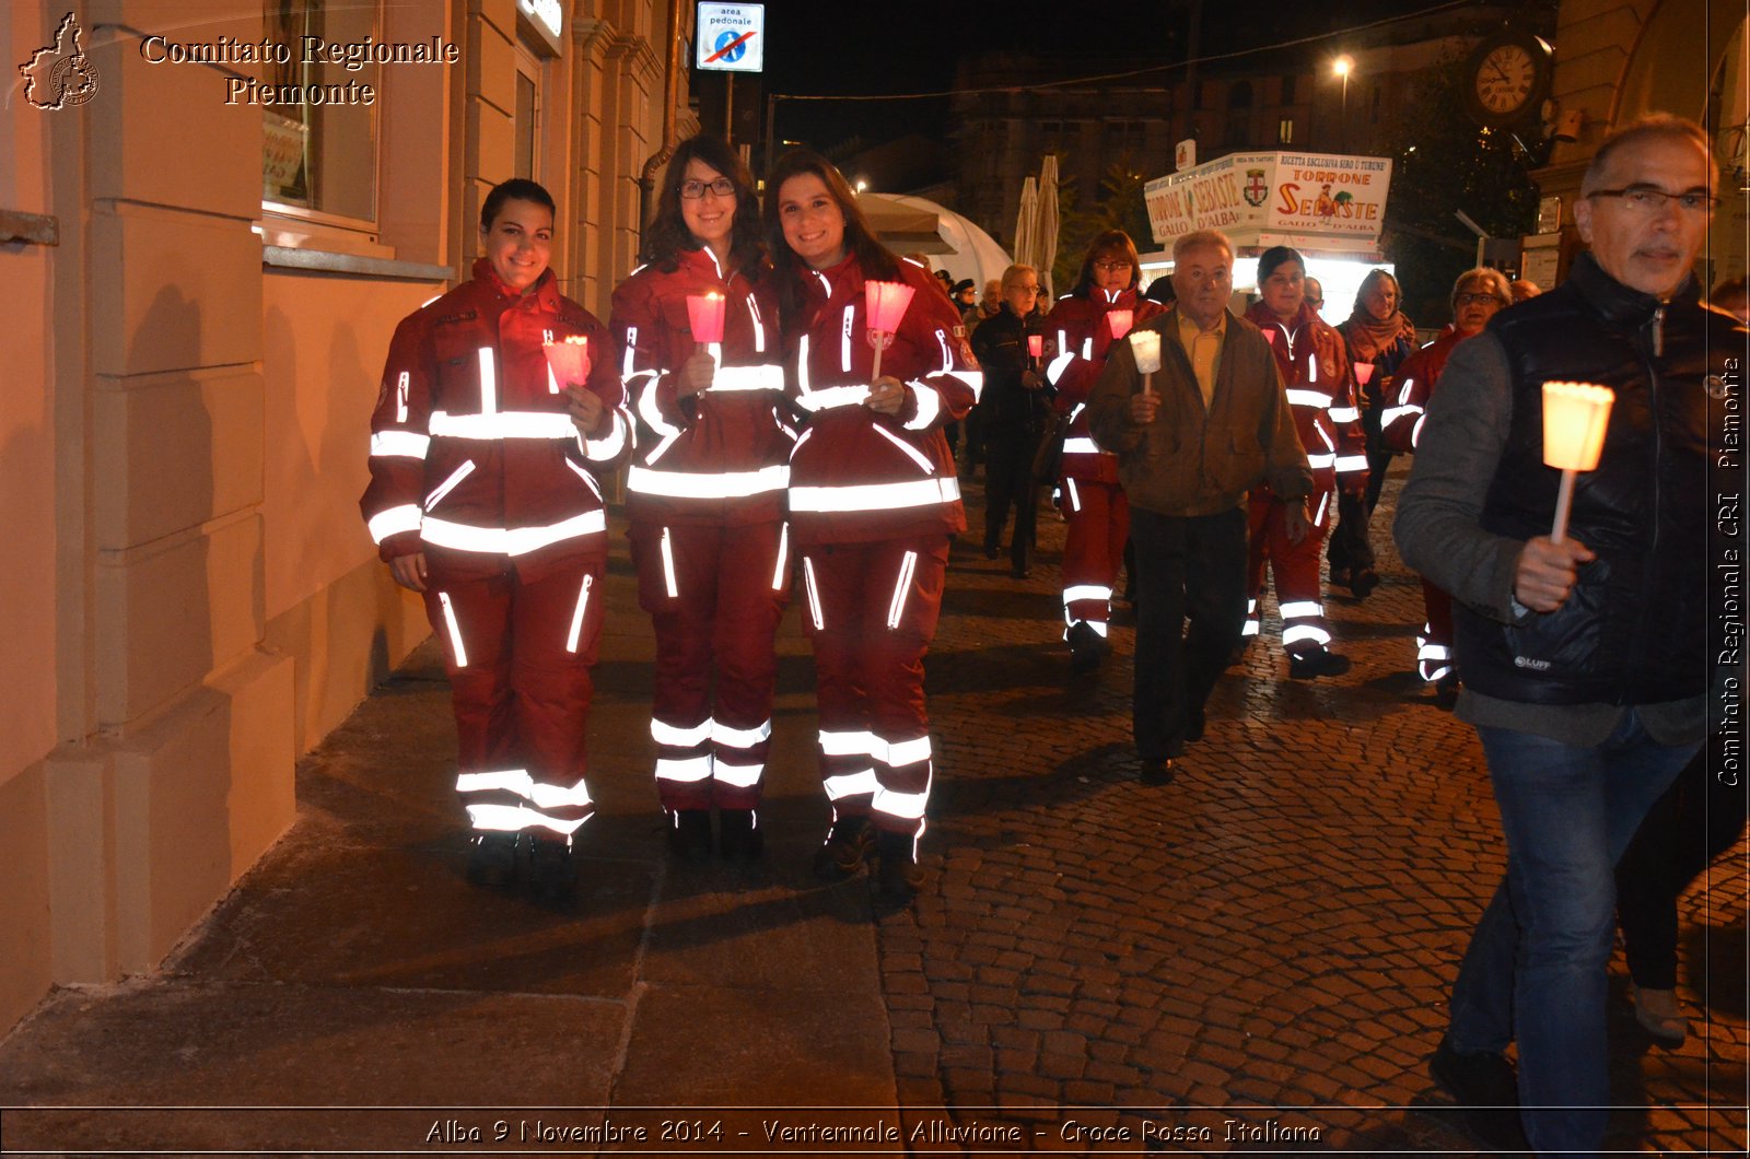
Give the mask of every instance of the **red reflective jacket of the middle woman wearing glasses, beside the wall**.
[[[644, 266], [614, 291], [611, 327], [639, 418], [626, 474], [626, 513], [663, 523], [746, 525], [779, 520], [789, 485], [796, 420], [784, 390], [782, 333], [770, 271], [728, 278], [709, 249], [681, 250], [679, 270]], [[681, 364], [698, 348], [686, 299], [724, 296], [723, 343], [712, 350], [710, 389], [676, 392]]]

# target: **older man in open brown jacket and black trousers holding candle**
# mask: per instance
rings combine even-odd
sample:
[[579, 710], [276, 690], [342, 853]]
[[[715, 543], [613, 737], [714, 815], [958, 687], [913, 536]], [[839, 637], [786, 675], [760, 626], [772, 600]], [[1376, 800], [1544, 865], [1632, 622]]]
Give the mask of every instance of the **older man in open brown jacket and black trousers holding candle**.
[[[1234, 315], [1234, 247], [1214, 229], [1172, 243], [1178, 306], [1139, 327], [1160, 369], [1138, 371], [1136, 338], [1116, 343], [1088, 396], [1094, 439], [1118, 455], [1136, 546], [1136, 690], [1130, 706], [1144, 784], [1172, 781], [1204, 702], [1246, 622], [1246, 492], [1288, 504], [1307, 534], [1312, 471], [1295, 434], [1270, 347]], [[1143, 338], [1143, 343], [1148, 340]], [[1181, 639], [1185, 618], [1190, 632]]]

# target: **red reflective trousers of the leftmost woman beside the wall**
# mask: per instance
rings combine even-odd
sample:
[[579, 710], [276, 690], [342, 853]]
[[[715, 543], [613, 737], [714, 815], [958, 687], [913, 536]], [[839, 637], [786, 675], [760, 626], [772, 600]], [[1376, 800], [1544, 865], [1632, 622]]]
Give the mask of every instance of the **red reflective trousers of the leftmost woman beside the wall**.
[[[476, 832], [570, 835], [595, 805], [584, 786], [590, 667], [602, 632], [602, 555], [425, 588], [443, 641], [457, 734], [457, 791]], [[434, 569], [436, 571], [436, 569]]]

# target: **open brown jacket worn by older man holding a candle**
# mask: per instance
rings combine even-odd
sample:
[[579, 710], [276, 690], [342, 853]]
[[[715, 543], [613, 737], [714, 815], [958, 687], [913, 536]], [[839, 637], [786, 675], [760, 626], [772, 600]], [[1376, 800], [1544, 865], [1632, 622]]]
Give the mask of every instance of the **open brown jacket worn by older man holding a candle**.
[[1136, 327], [1160, 333], [1155, 422], [1144, 427], [1130, 420], [1130, 396], [1143, 389], [1143, 376], [1129, 341], [1113, 343], [1088, 396], [1088, 427], [1102, 448], [1116, 452], [1130, 504], [1186, 516], [1242, 506], [1258, 483], [1269, 483], [1283, 499], [1309, 495], [1312, 471], [1258, 327], [1228, 312], [1214, 403], [1206, 410], [1178, 322], [1178, 312], [1169, 312]]

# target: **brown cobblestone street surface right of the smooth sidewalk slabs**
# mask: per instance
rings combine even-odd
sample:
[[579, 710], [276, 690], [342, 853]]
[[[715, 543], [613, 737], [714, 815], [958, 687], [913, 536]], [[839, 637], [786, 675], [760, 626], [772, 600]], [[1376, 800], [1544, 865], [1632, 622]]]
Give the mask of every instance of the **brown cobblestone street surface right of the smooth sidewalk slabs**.
[[[1384, 583], [1326, 599], [1353, 671], [1290, 681], [1267, 601], [1167, 788], [1136, 777], [1130, 620], [1097, 678], [1069, 676], [1062, 523], [1041, 515], [1031, 581], [956, 551], [929, 660], [942, 872], [880, 924], [901, 1105], [1034, 1115], [1052, 1145], [1069, 1119], [1132, 1140], [1148, 1119], [1076, 1105], [1152, 1106], [1214, 1145], [1225, 1120], [1316, 1126], [1323, 1147], [1368, 1154], [1466, 1145], [1433, 1110], [1447, 1099], [1426, 1057], [1505, 853], [1475, 734], [1414, 676], [1398, 483], [1374, 525]], [[1617, 956], [1614, 1098], [1633, 1108], [1612, 1147], [1743, 1147], [1741, 1110], [1704, 1110], [1743, 1103], [1743, 844], [1704, 881], [1682, 907], [1680, 989], [1708, 1021], [1680, 1050], [1640, 1031]]]

